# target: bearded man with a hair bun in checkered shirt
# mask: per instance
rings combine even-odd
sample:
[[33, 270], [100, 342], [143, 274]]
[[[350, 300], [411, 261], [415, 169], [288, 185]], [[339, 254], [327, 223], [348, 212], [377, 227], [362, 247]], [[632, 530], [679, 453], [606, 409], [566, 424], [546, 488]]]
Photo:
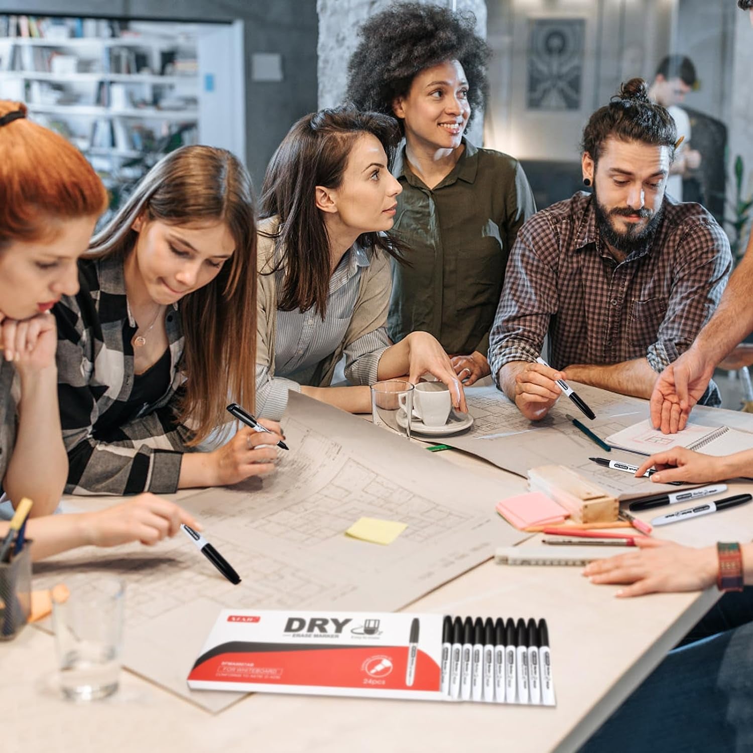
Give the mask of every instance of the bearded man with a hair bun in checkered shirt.
[[[556, 380], [648, 398], [691, 346], [732, 267], [724, 230], [702, 206], [666, 195], [677, 142], [666, 109], [634, 78], [584, 130], [584, 184], [523, 225], [508, 263], [489, 362], [529, 419]], [[550, 366], [535, 363], [550, 338]], [[704, 402], [718, 405], [715, 385]]]

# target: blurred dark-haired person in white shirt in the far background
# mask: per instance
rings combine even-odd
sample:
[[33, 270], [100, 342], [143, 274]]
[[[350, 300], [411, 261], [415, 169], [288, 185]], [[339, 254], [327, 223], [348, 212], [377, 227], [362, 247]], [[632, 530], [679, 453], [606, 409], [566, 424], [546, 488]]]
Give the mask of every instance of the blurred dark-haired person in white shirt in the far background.
[[675, 150], [675, 159], [669, 166], [666, 192], [672, 198], [682, 201], [682, 179], [701, 164], [700, 152], [691, 149], [691, 119], [678, 105], [684, 102], [688, 92], [697, 82], [693, 61], [684, 55], [667, 55], [659, 63], [654, 83], [648, 96], [654, 102], [666, 107], [677, 127], [678, 139], [682, 139]]

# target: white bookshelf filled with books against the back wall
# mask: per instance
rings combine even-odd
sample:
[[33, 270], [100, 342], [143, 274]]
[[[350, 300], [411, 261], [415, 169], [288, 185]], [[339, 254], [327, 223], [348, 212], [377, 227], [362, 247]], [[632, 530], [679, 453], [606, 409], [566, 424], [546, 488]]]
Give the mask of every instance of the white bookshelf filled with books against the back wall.
[[[100, 35], [63, 37], [69, 22]], [[49, 37], [0, 36], [0, 99], [26, 102], [29, 117], [81, 149], [108, 188], [127, 193], [186, 143], [227, 148], [245, 161], [241, 22], [50, 25], [57, 28]]]

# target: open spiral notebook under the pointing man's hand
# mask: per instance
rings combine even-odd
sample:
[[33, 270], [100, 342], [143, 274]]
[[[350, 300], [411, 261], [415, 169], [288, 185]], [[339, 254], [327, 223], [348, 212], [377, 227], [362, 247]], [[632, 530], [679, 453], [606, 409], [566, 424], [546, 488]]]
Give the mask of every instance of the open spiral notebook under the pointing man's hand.
[[617, 450], [631, 453], [654, 455], [673, 447], [687, 447], [688, 450], [706, 455], [722, 456], [753, 450], [753, 434], [737, 431], [729, 426], [701, 426], [689, 423], [677, 434], [662, 434], [651, 425], [651, 421], [641, 421], [617, 431], [606, 438], [607, 444]]

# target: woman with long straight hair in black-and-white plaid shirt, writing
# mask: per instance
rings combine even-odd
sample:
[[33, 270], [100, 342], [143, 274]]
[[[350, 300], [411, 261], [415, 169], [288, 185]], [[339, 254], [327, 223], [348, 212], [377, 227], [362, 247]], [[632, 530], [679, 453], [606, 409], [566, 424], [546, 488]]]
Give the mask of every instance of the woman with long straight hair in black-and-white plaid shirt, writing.
[[191, 452], [253, 407], [256, 233], [248, 173], [224, 149], [163, 157], [79, 261], [55, 306], [59, 400], [72, 493], [174, 492], [273, 468], [276, 437], [243, 428]]

